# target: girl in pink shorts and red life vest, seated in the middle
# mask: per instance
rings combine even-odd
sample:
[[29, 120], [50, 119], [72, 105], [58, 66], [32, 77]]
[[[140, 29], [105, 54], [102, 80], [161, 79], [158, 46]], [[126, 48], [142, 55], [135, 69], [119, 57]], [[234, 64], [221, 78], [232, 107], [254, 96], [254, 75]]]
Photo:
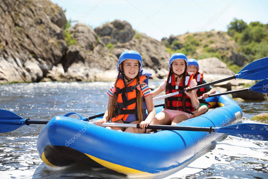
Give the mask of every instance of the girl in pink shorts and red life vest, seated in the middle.
[[166, 94], [180, 90], [185, 91], [182, 94], [165, 98], [165, 109], [155, 115], [151, 124], [177, 124], [189, 119], [192, 111], [199, 106], [196, 90], [186, 92], [187, 89], [196, 86], [193, 74], [187, 72], [186, 69], [187, 57], [183, 53], [175, 53], [170, 57], [168, 78], [152, 92], [152, 96], [157, 96], [163, 90], [166, 91]]

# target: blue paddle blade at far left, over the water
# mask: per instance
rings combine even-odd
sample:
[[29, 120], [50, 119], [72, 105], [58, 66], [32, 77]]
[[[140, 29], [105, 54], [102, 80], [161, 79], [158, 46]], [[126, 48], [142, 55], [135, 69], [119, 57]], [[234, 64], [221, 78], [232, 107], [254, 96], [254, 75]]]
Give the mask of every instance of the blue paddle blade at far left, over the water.
[[25, 124], [24, 118], [14, 112], [0, 109], [0, 133], [13, 131]]

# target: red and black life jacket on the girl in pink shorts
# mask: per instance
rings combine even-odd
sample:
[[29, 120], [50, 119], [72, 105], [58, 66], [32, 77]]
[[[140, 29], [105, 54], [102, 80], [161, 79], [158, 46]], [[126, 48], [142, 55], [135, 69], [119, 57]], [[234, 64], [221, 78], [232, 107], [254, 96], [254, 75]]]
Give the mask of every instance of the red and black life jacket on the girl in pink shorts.
[[[167, 81], [168, 90], [166, 94], [174, 93], [174, 92], [183, 90], [184, 88], [190, 86], [190, 82], [192, 79], [193, 79], [193, 73], [186, 72], [185, 84], [183, 84], [183, 80], [181, 80], [180, 86], [177, 86], [175, 82], [174, 73], [172, 73], [171, 77], [169, 78], [169, 81]], [[184, 95], [186, 97], [185, 97], [185, 103], [183, 104], [182, 98]], [[168, 100], [167, 109], [184, 111], [188, 113], [191, 113], [191, 111], [195, 111], [195, 108], [192, 106], [192, 103], [191, 103], [191, 98], [187, 96], [185, 93], [181, 93], [172, 97], [168, 97], [167, 100]]]

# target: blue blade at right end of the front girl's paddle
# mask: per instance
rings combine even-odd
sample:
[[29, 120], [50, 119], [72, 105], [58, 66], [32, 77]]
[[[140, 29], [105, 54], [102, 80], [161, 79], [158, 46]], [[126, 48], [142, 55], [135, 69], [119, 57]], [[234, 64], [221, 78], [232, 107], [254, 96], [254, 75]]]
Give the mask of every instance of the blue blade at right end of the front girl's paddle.
[[216, 133], [224, 133], [230, 136], [249, 138], [254, 140], [268, 141], [268, 125], [242, 123], [234, 124], [226, 127], [215, 127]]

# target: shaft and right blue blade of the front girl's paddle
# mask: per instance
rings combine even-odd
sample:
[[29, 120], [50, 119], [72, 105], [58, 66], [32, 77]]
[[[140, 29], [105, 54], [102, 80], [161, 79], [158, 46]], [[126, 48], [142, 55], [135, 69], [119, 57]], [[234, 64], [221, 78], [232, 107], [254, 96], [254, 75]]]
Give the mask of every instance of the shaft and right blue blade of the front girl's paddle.
[[[93, 123], [93, 122], [91, 122]], [[102, 123], [103, 127], [133, 127], [140, 129], [139, 124], [122, 124], [122, 123]], [[186, 130], [186, 131], [201, 131], [215, 132], [228, 134], [230, 136], [249, 138], [254, 140], [268, 141], [268, 125], [242, 123], [234, 124], [225, 127], [189, 127], [189, 126], [168, 126], [168, 125], [148, 125], [146, 129], [162, 129], [162, 130]]]

